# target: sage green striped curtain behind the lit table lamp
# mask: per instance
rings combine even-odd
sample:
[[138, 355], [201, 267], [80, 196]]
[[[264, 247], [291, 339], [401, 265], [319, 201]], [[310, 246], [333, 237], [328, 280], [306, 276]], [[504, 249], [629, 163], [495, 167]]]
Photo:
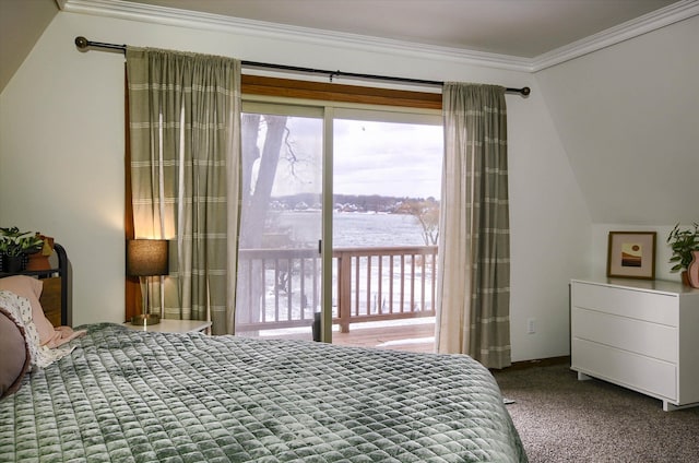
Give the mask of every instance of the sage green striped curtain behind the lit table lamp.
[[127, 72], [135, 237], [170, 240], [170, 274], [149, 310], [162, 292], [165, 318], [232, 333], [240, 62], [127, 47]]

